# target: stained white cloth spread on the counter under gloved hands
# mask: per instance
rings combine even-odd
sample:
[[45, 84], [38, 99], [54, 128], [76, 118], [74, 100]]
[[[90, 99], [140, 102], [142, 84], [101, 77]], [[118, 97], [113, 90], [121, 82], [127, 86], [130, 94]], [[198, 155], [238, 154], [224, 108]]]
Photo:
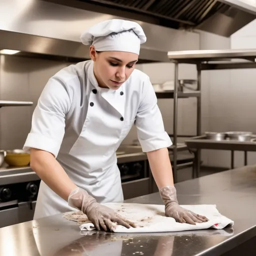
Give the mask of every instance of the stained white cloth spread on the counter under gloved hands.
[[[135, 222], [138, 227], [126, 228], [116, 225], [114, 232], [121, 233], [139, 233], [139, 232], [175, 232], [185, 230], [198, 230], [215, 228], [222, 229], [227, 225], [232, 226], [234, 222], [221, 215], [216, 205], [199, 204], [199, 205], [180, 205], [197, 214], [206, 216], [209, 221], [191, 225], [187, 223], [178, 223], [174, 218], [164, 216], [164, 205], [157, 204], [140, 204], [140, 203], [105, 203], [104, 205], [113, 208], [120, 215]], [[80, 230], [93, 230], [92, 223], [80, 225]]]

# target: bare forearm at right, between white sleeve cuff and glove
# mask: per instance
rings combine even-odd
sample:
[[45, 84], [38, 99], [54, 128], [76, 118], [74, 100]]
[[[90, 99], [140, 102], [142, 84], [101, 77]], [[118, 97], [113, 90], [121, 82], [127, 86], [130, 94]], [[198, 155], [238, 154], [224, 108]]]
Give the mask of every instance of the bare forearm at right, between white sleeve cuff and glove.
[[147, 152], [147, 158], [158, 189], [163, 186], [173, 186], [168, 149], [165, 147]]

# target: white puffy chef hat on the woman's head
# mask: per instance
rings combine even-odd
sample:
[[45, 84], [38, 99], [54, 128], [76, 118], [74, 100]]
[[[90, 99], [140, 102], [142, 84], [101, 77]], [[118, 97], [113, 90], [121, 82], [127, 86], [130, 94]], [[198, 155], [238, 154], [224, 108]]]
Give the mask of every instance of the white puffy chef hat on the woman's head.
[[140, 44], [146, 41], [142, 27], [123, 19], [109, 19], [95, 24], [80, 36], [85, 45], [97, 51], [127, 51], [139, 54]]

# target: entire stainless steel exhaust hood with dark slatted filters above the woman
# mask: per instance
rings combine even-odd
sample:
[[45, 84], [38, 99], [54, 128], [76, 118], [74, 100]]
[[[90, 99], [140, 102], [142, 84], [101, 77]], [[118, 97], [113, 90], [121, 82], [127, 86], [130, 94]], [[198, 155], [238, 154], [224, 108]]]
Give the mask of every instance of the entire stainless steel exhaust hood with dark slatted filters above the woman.
[[[246, 2], [246, 3], [245, 3]], [[89, 47], [79, 36], [110, 18], [138, 22], [147, 41], [139, 62], [169, 61], [179, 48], [178, 33], [201, 29], [229, 36], [256, 17], [252, 0], [1, 0], [0, 49], [15, 55], [80, 61]], [[194, 34], [194, 33], [192, 33]]]

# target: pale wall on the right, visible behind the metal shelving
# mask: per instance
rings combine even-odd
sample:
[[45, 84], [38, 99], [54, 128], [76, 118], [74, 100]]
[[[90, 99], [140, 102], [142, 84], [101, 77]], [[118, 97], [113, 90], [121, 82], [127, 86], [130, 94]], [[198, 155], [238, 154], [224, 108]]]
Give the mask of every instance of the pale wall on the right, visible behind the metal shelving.
[[[250, 22], [230, 38], [200, 33], [201, 49], [255, 48], [256, 20]], [[209, 90], [208, 128], [212, 131], [250, 130], [256, 132], [255, 69], [203, 71]], [[206, 77], [207, 76], [207, 80]], [[204, 97], [203, 100], [206, 98]], [[230, 167], [230, 152], [203, 150], [208, 164]], [[248, 164], [256, 163], [256, 153], [248, 152]], [[235, 152], [235, 166], [243, 165], [243, 152]]]

